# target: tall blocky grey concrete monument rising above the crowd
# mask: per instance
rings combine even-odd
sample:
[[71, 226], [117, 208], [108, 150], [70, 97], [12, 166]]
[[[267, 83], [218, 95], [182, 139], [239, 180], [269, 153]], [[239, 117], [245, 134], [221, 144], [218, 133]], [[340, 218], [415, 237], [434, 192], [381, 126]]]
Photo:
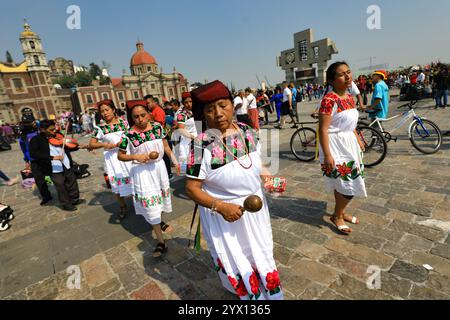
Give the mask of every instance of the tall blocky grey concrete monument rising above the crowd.
[[325, 71], [336, 44], [330, 38], [314, 41], [312, 29], [294, 34], [294, 47], [281, 52], [278, 66], [286, 72], [286, 81], [325, 83]]

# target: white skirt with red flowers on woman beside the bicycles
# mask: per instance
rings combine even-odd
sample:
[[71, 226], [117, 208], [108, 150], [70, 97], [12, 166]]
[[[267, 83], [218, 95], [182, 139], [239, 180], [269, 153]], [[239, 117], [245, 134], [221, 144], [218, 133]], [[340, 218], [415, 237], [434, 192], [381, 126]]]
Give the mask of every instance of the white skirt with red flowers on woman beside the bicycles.
[[[328, 137], [330, 152], [335, 162], [335, 168], [331, 172], [324, 172], [328, 191], [336, 190], [346, 196], [367, 197], [363, 153], [355, 133], [352, 131], [329, 133]], [[319, 159], [323, 164], [321, 145], [319, 145]]]

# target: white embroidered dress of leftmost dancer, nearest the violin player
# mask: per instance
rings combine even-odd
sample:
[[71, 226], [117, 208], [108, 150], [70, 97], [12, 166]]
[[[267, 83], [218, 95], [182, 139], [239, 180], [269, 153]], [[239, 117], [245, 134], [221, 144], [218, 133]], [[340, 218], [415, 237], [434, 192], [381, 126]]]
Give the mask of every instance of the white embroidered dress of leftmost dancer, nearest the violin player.
[[[122, 118], [119, 118], [119, 123], [114, 125], [102, 122], [95, 127], [92, 137], [103, 143], [117, 144], [121, 141], [123, 133], [128, 128], [128, 123]], [[119, 148], [104, 150], [104, 168], [111, 184], [111, 191], [121, 197], [126, 197], [132, 193], [130, 184], [131, 164], [119, 161], [117, 158], [118, 153]]]

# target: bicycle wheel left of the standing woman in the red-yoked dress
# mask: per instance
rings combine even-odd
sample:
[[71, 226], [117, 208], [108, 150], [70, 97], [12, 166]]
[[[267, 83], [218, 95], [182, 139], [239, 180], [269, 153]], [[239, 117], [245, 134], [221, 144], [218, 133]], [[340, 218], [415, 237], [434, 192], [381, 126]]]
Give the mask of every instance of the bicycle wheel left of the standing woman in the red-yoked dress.
[[313, 161], [316, 158], [316, 131], [311, 128], [301, 128], [291, 137], [291, 151], [300, 161]]

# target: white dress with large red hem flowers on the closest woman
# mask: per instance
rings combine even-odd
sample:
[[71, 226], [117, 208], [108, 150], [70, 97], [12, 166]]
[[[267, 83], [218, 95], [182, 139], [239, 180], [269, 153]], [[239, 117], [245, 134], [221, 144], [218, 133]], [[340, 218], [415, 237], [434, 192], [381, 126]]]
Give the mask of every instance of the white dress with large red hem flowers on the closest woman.
[[250, 168], [245, 169], [234, 160], [220, 142], [210, 142], [208, 134], [201, 134], [199, 138], [205, 142], [203, 146], [192, 144], [187, 177], [203, 180], [206, 193], [227, 203], [243, 206], [250, 195], [263, 200], [259, 212], [245, 212], [233, 223], [200, 206], [200, 221], [223, 286], [243, 300], [278, 300], [283, 298], [283, 292], [273, 257], [269, 209], [261, 187], [260, 148], [256, 133], [246, 125], [239, 127], [250, 157], [245, 156], [239, 134], [227, 138], [228, 148], [244, 167], [252, 164]]

